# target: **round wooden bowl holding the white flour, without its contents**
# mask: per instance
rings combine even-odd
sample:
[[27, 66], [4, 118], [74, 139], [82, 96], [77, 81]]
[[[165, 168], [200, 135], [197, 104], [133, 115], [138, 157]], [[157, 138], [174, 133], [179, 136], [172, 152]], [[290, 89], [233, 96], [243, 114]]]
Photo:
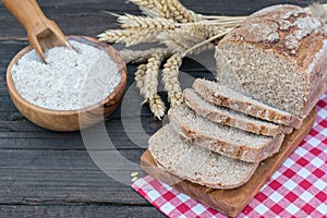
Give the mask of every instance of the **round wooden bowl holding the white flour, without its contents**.
[[21, 59], [26, 52], [33, 49], [31, 46], [27, 46], [26, 48], [21, 50], [12, 59], [7, 70], [7, 86], [9, 89], [9, 94], [15, 107], [21, 111], [21, 113], [23, 113], [28, 120], [41, 128], [59, 132], [71, 132], [84, 128], [89, 128], [108, 117], [117, 108], [120, 100], [122, 99], [128, 80], [126, 65], [124, 63], [124, 60], [113, 47], [100, 43], [95, 38], [86, 36], [69, 36], [68, 38], [105, 50], [109, 55], [109, 57], [117, 63], [119, 73], [121, 74], [121, 80], [118, 86], [105, 100], [78, 110], [51, 110], [35, 106], [25, 100], [17, 93], [14, 86], [11, 70], [13, 65], [19, 61], [19, 59]]

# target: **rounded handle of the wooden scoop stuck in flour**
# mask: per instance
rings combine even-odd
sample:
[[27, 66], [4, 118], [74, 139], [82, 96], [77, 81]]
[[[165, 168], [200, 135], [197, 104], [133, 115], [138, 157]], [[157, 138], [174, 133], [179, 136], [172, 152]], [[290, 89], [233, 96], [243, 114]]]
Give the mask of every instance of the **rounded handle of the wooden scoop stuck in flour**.
[[28, 35], [35, 33], [35, 29], [45, 29], [49, 22], [36, 0], [2, 0], [2, 3], [24, 26]]

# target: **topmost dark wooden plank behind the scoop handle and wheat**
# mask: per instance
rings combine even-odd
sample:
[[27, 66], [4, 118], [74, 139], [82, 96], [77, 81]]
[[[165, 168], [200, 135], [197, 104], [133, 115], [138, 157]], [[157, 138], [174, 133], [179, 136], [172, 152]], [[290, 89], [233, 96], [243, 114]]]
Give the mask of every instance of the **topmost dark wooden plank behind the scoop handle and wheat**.
[[[81, 3], [82, 2], [82, 3]], [[83, 3], [86, 2], [86, 3]], [[137, 14], [137, 8], [126, 4], [125, 1], [116, 0], [110, 2], [98, 1], [39, 1], [47, 16], [55, 20], [66, 35], [96, 36], [100, 32], [117, 25], [116, 17], [105, 13], [110, 11], [123, 14], [126, 11]], [[129, 8], [126, 8], [129, 5]], [[26, 33], [19, 22], [0, 3], [0, 39], [25, 40]], [[83, 25], [78, 25], [83, 24]], [[113, 25], [114, 24], [114, 25]], [[5, 31], [4, 31], [5, 29]]]

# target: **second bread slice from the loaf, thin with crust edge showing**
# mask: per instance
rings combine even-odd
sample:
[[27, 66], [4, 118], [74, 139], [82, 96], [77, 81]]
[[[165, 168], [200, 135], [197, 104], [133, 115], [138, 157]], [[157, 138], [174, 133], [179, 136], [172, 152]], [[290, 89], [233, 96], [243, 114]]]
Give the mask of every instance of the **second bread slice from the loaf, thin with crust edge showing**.
[[214, 104], [206, 101], [191, 88], [184, 89], [183, 100], [197, 114], [222, 125], [229, 125], [246, 132], [267, 136], [290, 134], [292, 132], [292, 129], [286, 125], [258, 120], [229, 108], [215, 106]]

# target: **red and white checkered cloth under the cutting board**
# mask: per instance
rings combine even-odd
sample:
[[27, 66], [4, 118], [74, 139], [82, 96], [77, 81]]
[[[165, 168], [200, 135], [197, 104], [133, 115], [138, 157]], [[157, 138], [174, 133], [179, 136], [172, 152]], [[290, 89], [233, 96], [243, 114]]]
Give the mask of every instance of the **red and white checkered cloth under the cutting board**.
[[[132, 187], [168, 217], [225, 217], [149, 175]], [[313, 130], [239, 217], [327, 218], [327, 94]]]

